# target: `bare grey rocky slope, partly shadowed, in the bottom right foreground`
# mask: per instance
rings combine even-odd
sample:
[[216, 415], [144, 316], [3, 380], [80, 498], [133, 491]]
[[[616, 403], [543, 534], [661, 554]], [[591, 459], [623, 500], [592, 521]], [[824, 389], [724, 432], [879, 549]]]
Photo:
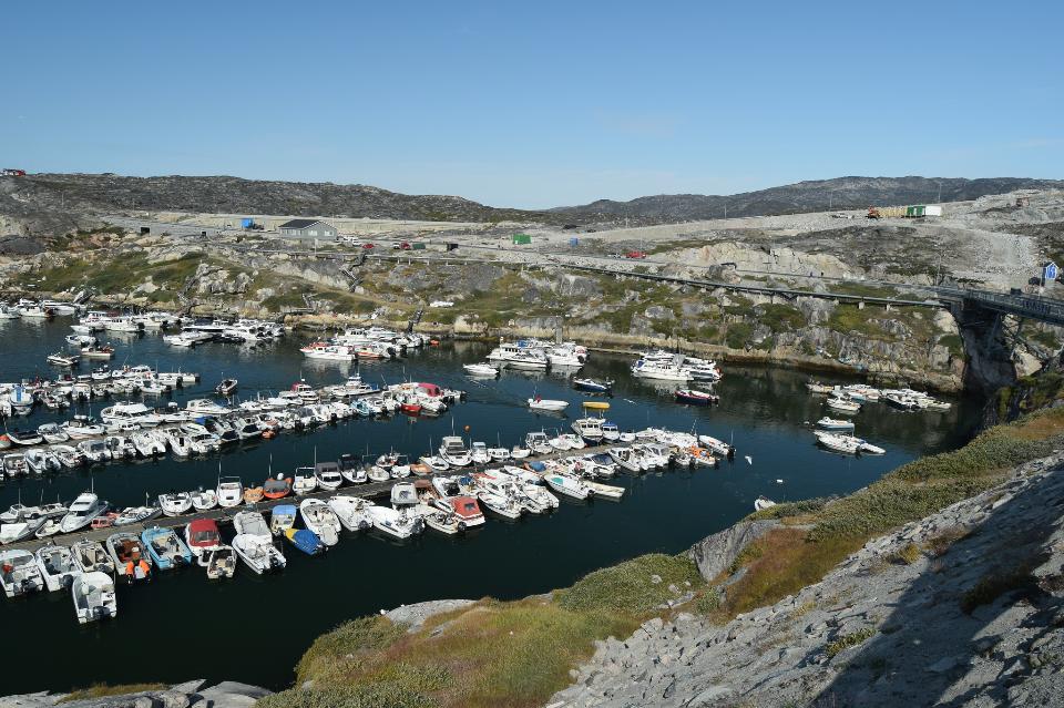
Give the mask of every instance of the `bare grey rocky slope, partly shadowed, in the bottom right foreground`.
[[1062, 469], [1022, 465], [727, 624], [682, 613], [600, 643], [549, 705], [1061, 705]]

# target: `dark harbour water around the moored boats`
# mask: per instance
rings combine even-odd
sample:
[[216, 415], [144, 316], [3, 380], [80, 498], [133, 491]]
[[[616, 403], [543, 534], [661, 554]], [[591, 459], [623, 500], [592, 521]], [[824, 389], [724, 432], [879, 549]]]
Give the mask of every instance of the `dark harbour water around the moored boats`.
[[[54, 376], [44, 357], [63, 348], [69, 322], [7, 322], [0, 328], [0, 380]], [[167, 347], [153, 335], [110, 337], [115, 365], [150, 363], [160, 371], [198, 371], [203, 383], [186, 389], [178, 402], [205, 394], [225, 376], [237, 377], [241, 392], [287, 388], [300, 377], [315, 384], [338, 382], [347, 369], [313, 366], [296, 338], [248, 350], [206, 345], [194, 350]], [[170, 489], [213, 486], [218, 461], [224, 474], [245, 481], [309, 464], [341, 452], [390, 448], [420, 454], [440, 437], [470, 427], [474, 440], [510, 447], [529, 430], [567, 427], [567, 420], [535, 415], [524, 400], [539, 392], [563, 398], [579, 410], [582, 394], [553, 374], [504, 374], [478, 382], [460, 363], [480, 360], [489, 347], [458, 342], [415, 352], [402, 361], [361, 367], [380, 382], [405, 378], [469, 391], [469, 400], [437, 420], [355, 420], [307, 434], [283, 434], [214, 459], [111, 464], [94, 469], [95, 490], [113, 505], [143, 502]], [[427, 532], [397, 544], [374, 535], [345, 534], [327, 555], [289, 553], [287, 570], [258, 577], [241, 567], [227, 583], [207, 582], [201, 568], [160, 574], [151, 585], [119, 588], [114, 622], [79, 626], [69, 594], [50, 593], [0, 601], [4, 627], [4, 685], [0, 692], [61, 690], [94, 681], [180, 681], [233, 679], [272, 688], [291, 681], [291, 669], [314, 638], [341, 620], [403, 603], [443, 597], [516, 598], [571, 584], [582, 574], [648, 552], [677, 553], [753, 511], [765, 494], [777, 501], [843, 494], [915, 456], [962, 444], [972, 428], [976, 402], [955, 401], [948, 413], [901, 413], [870, 404], [857, 417], [858, 433], [887, 448], [880, 458], [836, 455], [814, 445], [807, 421], [823, 414], [822, 399], [809, 396], [806, 374], [761, 368], [726, 368], [716, 390], [719, 407], [677, 406], [653, 386], [633, 380], [624, 358], [593, 355], [585, 373], [617, 383], [610, 418], [622, 429], [647, 424], [734, 435], [734, 464], [719, 470], [668, 471], [641, 478], [620, 475], [627, 488], [622, 502], [566, 503], [546, 517], [519, 523], [491, 520], [464, 537]], [[100, 403], [95, 404], [98, 408]], [[34, 425], [55, 417], [35, 412]], [[452, 420], [453, 419], [453, 420]], [[22, 421], [20, 421], [21, 423]], [[753, 458], [747, 464], [744, 455]], [[52, 479], [27, 479], [0, 486], [0, 507], [59, 494], [70, 501], [90, 483], [90, 471]], [[782, 484], [776, 480], [781, 479]]]

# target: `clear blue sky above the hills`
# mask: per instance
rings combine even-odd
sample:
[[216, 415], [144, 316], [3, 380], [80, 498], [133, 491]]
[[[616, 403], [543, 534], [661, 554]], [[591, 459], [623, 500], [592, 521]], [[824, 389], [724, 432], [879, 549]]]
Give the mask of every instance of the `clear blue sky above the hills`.
[[1058, 178], [1062, 20], [1048, 1], [16, 2], [0, 166], [533, 208]]

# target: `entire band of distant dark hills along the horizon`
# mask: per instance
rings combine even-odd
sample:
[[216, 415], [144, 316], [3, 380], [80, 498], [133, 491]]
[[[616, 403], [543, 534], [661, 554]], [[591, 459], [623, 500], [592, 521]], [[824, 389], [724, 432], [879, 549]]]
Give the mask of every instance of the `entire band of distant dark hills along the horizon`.
[[227, 176], [126, 177], [114, 174], [31, 174], [0, 177], [0, 226], [6, 233], [55, 235], [94, 217], [130, 209], [278, 214], [440, 222], [657, 224], [724, 216], [761, 216], [973, 199], [1017, 188], [1064, 188], [1064, 182], [1023, 177], [983, 179], [839, 177], [730, 196], [675, 194], [631, 202], [525, 211], [487, 206], [457, 196], [407, 195], [366, 185], [275, 182]]

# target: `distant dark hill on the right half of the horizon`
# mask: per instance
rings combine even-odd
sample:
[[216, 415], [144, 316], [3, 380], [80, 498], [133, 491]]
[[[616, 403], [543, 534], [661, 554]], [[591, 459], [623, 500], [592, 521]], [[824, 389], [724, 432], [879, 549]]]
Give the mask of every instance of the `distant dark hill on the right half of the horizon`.
[[[941, 186], [941, 197], [939, 187]], [[986, 194], [1014, 189], [1061, 188], [1057, 179], [993, 177], [985, 179], [935, 177], [838, 177], [799, 182], [780, 187], [728, 196], [702, 194], [662, 194], [631, 202], [600, 199], [582, 206], [554, 209], [576, 222], [657, 224], [720, 218], [727, 205], [728, 216], [763, 216], [829, 208], [866, 208], [872, 205], [965, 202]]]

